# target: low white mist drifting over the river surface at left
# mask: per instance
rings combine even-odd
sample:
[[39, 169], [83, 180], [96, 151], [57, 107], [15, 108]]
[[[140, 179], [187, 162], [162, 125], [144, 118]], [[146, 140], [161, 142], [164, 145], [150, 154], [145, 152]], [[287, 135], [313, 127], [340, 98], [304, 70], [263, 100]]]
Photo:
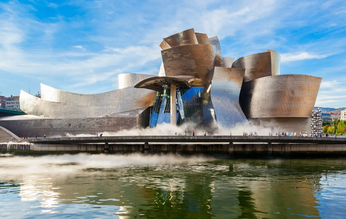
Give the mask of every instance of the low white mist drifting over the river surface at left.
[[86, 168], [113, 168], [123, 166], [159, 165], [169, 163], [193, 163], [211, 161], [213, 158], [199, 155], [182, 156], [179, 154], [144, 155], [121, 154], [62, 154], [45, 156], [13, 156], [0, 154], [0, 176], [2, 179], [12, 176], [49, 173], [71, 174]]

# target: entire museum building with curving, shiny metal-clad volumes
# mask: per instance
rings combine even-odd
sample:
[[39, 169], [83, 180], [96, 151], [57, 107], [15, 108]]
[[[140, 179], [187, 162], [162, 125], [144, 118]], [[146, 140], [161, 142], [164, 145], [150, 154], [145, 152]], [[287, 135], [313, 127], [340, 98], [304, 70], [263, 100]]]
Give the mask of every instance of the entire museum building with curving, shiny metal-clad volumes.
[[[0, 117], [17, 136], [95, 134], [170, 123], [192, 129], [255, 124], [310, 129], [320, 77], [280, 75], [280, 54], [223, 57], [218, 37], [188, 29], [163, 39], [157, 75], [120, 74], [119, 89], [77, 94], [41, 84], [41, 97], [20, 92], [27, 115]], [[276, 131], [276, 130], [275, 130]]]

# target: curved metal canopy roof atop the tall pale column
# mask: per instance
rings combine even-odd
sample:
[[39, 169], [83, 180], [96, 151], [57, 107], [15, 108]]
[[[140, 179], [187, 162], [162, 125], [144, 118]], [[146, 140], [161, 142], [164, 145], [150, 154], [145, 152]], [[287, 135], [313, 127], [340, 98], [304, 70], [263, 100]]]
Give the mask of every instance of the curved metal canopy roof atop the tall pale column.
[[145, 79], [138, 84], [136, 84], [135, 88], [145, 88], [149, 90], [154, 90], [160, 93], [163, 93], [163, 90], [169, 88], [171, 84], [175, 84], [177, 87], [185, 87], [191, 88], [193, 81], [185, 81], [176, 77], [150, 77]]

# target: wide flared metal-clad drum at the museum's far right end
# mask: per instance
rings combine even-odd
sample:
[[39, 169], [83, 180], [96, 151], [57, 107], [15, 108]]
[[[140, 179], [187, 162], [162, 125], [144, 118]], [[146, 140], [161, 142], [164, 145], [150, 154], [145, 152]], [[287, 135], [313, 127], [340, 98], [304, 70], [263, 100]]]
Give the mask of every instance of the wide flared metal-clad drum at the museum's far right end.
[[284, 74], [245, 82], [240, 104], [249, 118], [311, 117], [320, 77]]

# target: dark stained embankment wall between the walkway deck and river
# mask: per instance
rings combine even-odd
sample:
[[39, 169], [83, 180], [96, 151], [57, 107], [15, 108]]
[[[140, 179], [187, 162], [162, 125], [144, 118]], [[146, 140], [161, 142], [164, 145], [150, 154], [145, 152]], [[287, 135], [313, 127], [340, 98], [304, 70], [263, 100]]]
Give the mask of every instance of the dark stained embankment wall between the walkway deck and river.
[[42, 152], [346, 153], [346, 144], [0, 144], [0, 150]]

